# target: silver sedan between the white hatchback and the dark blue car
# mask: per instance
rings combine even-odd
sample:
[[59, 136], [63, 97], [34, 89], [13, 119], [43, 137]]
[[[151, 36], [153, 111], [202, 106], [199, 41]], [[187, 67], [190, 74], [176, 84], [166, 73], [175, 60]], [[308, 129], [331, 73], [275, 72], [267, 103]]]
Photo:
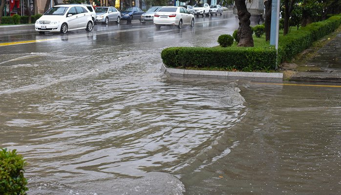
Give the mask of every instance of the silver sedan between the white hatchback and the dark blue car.
[[116, 21], [117, 24], [121, 21], [121, 13], [115, 7], [97, 7], [96, 21], [108, 24], [109, 21]]

